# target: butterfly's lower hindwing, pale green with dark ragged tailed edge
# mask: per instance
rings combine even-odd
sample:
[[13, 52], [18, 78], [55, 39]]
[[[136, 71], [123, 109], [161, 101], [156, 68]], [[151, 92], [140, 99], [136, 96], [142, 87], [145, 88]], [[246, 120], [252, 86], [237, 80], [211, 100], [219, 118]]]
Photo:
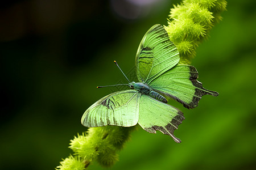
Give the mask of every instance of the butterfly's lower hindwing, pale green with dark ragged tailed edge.
[[180, 143], [180, 139], [174, 136], [174, 130], [184, 120], [183, 113], [178, 109], [153, 99], [147, 95], [141, 95], [139, 100], [139, 125], [150, 132], [156, 130], [163, 134], [170, 135], [175, 142]]

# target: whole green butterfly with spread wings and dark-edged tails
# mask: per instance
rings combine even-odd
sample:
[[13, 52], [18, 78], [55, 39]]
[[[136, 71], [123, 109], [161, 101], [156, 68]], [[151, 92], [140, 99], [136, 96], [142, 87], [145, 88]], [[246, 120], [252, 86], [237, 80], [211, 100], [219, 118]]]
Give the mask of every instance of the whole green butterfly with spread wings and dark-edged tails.
[[203, 88], [196, 80], [196, 68], [180, 65], [179, 60], [179, 52], [163, 26], [152, 26], [144, 35], [135, 58], [139, 83], [127, 79], [129, 84], [125, 85], [130, 90], [114, 92], [96, 101], [83, 114], [82, 125], [129, 127], [139, 124], [150, 133], [159, 130], [180, 143], [174, 130], [185, 118], [181, 111], [167, 104], [167, 99], [175, 99], [189, 109], [197, 107], [203, 95], [218, 96], [218, 93]]

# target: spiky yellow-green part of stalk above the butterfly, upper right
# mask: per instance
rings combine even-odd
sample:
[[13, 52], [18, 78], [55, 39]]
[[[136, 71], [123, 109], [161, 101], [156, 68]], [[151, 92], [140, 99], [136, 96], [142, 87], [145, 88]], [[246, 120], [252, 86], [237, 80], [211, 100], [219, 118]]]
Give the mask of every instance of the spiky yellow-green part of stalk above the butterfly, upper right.
[[165, 29], [179, 50], [180, 63], [191, 63], [196, 56], [195, 49], [209, 36], [213, 25], [222, 19], [220, 14], [224, 10], [224, 0], [185, 0], [171, 8]]

